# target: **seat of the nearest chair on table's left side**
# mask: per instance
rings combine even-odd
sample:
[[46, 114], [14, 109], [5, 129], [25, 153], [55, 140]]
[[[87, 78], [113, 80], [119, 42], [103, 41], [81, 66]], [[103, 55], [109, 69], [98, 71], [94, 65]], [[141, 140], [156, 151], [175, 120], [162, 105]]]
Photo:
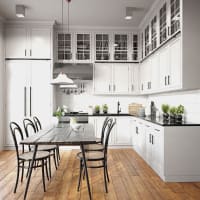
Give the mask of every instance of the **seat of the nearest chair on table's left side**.
[[[46, 159], [49, 157], [49, 152], [47, 151], [37, 151], [35, 160], [41, 160], [41, 159]], [[27, 152], [19, 155], [19, 159], [21, 160], [26, 160], [26, 161], [31, 161], [33, 158], [33, 152]]]

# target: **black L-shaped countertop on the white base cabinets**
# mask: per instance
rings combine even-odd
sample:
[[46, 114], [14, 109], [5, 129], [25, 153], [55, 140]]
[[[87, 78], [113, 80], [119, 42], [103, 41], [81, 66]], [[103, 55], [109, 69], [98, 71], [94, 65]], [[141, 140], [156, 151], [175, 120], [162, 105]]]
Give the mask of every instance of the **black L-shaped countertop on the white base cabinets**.
[[138, 119], [142, 119], [145, 120], [147, 122], [151, 122], [160, 126], [200, 126], [200, 123], [193, 123], [193, 122], [189, 122], [189, 121], [182, 121], [181, 123], [176, 123], [176, 122], [172, 122], [172, 121], [163, 121], [162, 118], [151, 118], [151, 117], [138, 117], [138, 116], [134, 116], [134, 115], [130, 115], [128, 113], [107, 113], [107, 114], [88, 114], [88, 113], [76, 113], [76, 114], [65, 114], [65, 117], [80, 117], [80, 116], [88, 116], [88, 117], [105, 117], [105, 116], [113, 116], [113, 117], [123, 117], [123, 116], [130, 116], [130, 117], [135, 117]]

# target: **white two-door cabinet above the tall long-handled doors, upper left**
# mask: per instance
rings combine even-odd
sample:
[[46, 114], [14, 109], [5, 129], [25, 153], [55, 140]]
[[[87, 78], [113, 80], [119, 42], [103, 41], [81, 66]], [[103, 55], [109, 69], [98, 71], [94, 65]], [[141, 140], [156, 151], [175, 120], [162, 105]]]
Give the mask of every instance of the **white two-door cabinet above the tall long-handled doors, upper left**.
[[51, 58], [51, 28], [8, 26], [5, 29], [6, 58]]

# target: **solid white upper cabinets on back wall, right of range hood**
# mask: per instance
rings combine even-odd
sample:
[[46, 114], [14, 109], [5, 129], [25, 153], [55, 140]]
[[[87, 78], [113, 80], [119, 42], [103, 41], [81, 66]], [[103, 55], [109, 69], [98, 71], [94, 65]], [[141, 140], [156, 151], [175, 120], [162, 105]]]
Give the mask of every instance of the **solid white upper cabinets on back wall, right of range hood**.
[[138, 65], [128, 63], [96, 63], [95, 94], [137, 94]]

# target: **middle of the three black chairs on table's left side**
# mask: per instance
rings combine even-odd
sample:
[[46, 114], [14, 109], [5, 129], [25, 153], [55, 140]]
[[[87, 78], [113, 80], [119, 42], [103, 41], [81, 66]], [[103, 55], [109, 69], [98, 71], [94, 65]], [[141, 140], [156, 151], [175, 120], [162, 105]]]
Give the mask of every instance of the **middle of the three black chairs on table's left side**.
[[[24, 125], [24, 130], [25, 130], [25, 133], [26, 133], [26, 137], [30, 136], [30, 130], [33, 131], [33, 133], [37, 133], [36, 126], [35, 126], [35, 124], [33, 123], [32, 120], [25, 118], [23, 120], [23, 125]], [[31, 150], [30, 147], [29, 147], [29, 149]], [[38, 146], [38, 151], [47, 151], [47, 152], [50, 153], [50, 156], [53, 156], [55, 168], [57, 169], [56, 150], [57, 150], [56, 145], [39, 145]], [[51, 178], [51, 159], [49, 159], [49, 175], [50, 175], [50, 178]]]

